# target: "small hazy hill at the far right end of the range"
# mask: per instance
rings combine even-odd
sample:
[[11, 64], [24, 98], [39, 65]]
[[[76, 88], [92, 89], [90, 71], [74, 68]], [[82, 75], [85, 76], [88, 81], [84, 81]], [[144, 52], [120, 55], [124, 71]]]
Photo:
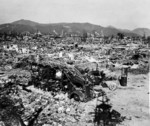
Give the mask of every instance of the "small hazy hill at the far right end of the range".
[[150, 29], [148, 28], [137, 28], [137, 29], [134, 29], [132, 32], [141, 36], [143, 36], [144, 34], [146, 36], [150, 36]]

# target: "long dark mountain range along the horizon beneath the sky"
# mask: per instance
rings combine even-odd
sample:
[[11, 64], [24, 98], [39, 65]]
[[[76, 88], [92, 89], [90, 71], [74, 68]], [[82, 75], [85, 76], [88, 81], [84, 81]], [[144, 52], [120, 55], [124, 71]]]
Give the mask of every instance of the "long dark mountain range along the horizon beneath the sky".
[[18, 20], [12, 23], [6, 23], [0, 25], [0, 33], [4, 32], [30, 32], [35, 33], [40, 31], [43, 34], [62, 34], [62, 33], [99, 33], [105, 36], [117, 35], [117, 33], [123, 33], [127, 36], [150, 36], [150, 29], [148, 28], [137, 28], [134, 30], [118, 29], [113, 26], [103, 27], [91, 23], [51, 23], [41, 24], [30, 20]]

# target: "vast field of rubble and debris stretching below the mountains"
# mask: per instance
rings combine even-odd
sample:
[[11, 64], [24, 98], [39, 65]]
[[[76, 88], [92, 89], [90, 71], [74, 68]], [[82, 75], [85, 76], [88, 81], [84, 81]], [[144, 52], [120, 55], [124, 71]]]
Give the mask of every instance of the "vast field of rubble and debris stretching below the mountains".
[[146, 43], [10, 43], [0, 51], [0, 126], [150, 125]]

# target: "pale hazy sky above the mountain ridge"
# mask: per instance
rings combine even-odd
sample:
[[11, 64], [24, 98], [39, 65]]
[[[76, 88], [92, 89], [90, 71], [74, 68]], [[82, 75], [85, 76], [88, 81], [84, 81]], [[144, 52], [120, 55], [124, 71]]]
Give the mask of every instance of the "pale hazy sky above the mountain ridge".
[[150, 28], [150, 0], [0, 0], [0, 24], [20, 19]]

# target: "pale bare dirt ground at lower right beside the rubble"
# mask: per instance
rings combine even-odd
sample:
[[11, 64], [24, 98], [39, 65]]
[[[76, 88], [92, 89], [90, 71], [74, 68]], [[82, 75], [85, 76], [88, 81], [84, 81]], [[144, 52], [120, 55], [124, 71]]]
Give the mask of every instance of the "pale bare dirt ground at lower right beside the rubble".
[[[126, 87], [118, 86], [115, 91], [104, 90], [110, 99], [112, 109], [126, 117], [117, 126], [150, 125], [149, 74], [129, 74]], [[94, 106], [96, 106], [96, 100], [86, 103], [86, 112], [92, 111]]]

